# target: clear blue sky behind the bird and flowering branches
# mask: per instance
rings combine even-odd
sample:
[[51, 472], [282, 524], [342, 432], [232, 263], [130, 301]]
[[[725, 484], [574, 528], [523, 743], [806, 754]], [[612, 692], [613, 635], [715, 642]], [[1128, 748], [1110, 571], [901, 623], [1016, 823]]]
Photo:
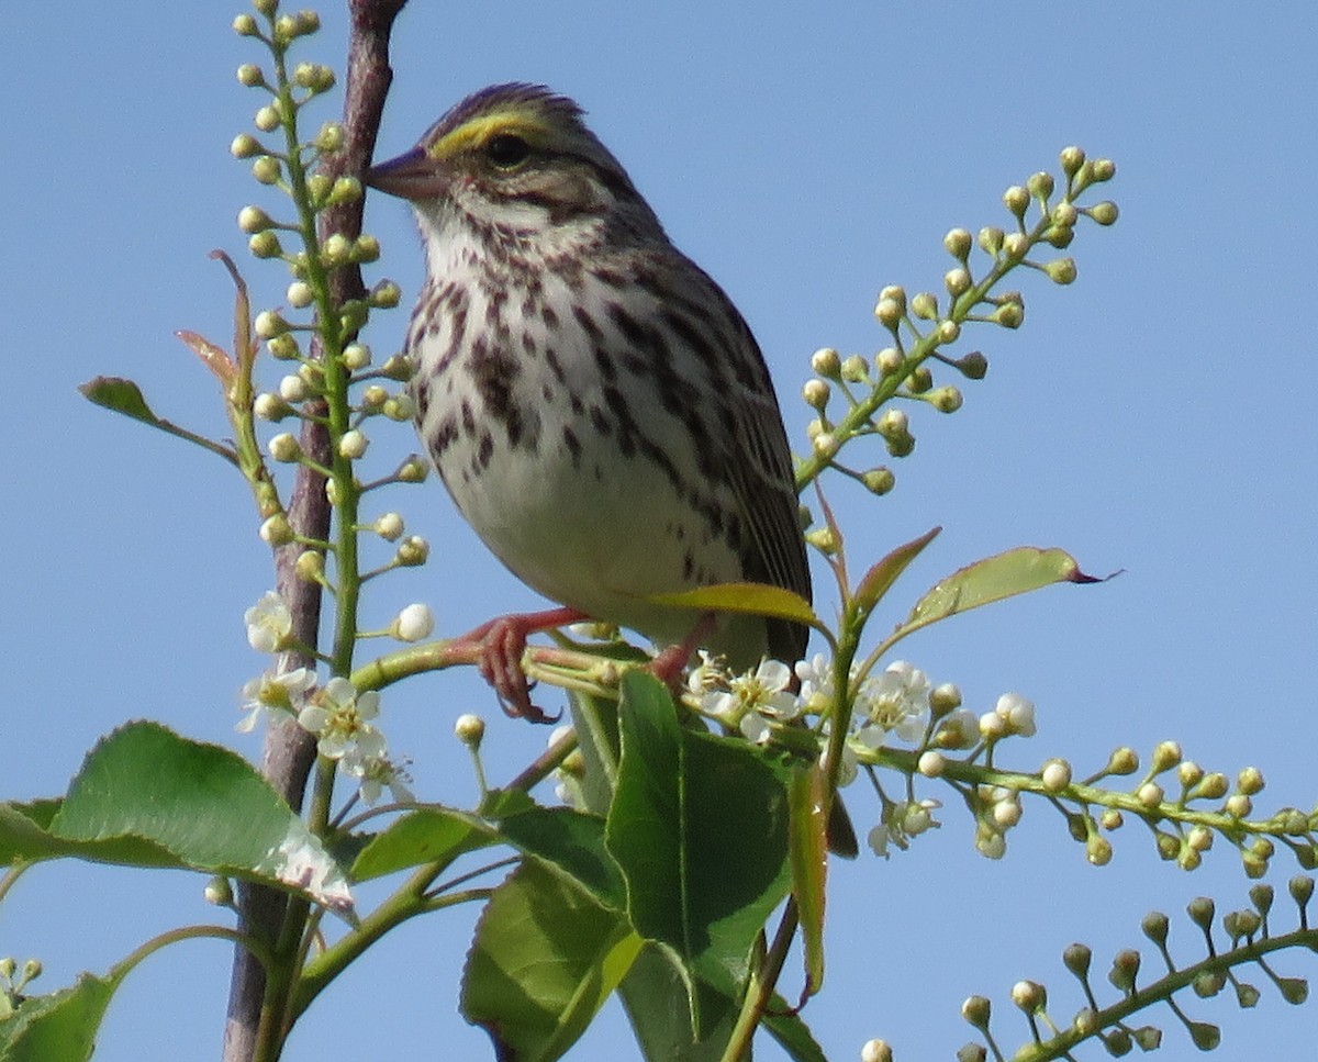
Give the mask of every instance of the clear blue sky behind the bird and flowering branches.
[[[1315, 11], [414, 7], [397, 30], [381, 150], [406, 149], [492, 82], [546, 82], [577, 98], [675, 241], [754, 327], [799, 447], [809, 353], [884, 345], [870, 316], [879, 287], [937, 287], [950, 262], [942, 233], [1002, 224], [1002, 190], [1056, 170], [1064, 145], [1114, 158], [1122, 220], [1082, 227], [1075, 285], [1023, 277], [1025, 327], [967, 332], [962, 349], [987, 354], [988, 377], [965, 386], [957, 415], [913, 415], [919, 444], [898, 466], [898, 490], [876, 501], [838, 486], [834, 501], [857, 563], [945, 527], [894, 592], [891, 619], [941, 574], [1017, 544], [1062, 545], [1095, 573], [1124, 569], [956, 619], [904, 648], [978, 710], [1008, 689], [1037, 704], [1039, 735], [1006, 762], [1033, 768], [1061, 755], [1086, 773], [1118, 744], [1147, 758], [1177, 738], [1210, 769], [1263, 768], [1260, 808], [1311, 806], [1318, 395], [1304, 314], [1318, 241]], [[257, 750], [232, 730], [236, 692], [264, 664], [241, 614], [270, 584], [244, 486], [74, 390], [98, 373], [130, 376], [163, 415], [223, 433], [214, 382], [171, 335], [227, 340], [231, 290], [207, 252], [232, 252], [258, 303], [282, 299], [286, 278], [245, 256], [233, 224], [248, 202], [275, 206], [228, 155], [258, 103], [232, 76], [260, 59], [228, 30], [236, 11], [75, 0], [7, 12], [5, 34], [21, 45], [0, 65], [4, 796], [62, 792], [95, 739], [129, 718]], [[343, 18], [322, 16], [306, 58], [337, 66]], [[410, 300], [420, 257], [406, 208], [373, 202], [368, 227], [385, 245], [381, 273]], [[395, 348], [403, 323], [384, 319], [374, 348]], [[374, 445], [401, 455], [414, 441], [399, 428]], [[435, 560], [381, 582], [368, 619], [426, 600], [453, 634], [536, 603], [435, 484], [389, 505], [432, 540]], [[817, 603], [829, 607], [822, 594]], [[415, 759], [420, 795], [472, 797], [451, 738], [460, 712], [490, 717], [496, 777], [539, 751], [543, 731], [493, 708], [471, 676], [386, 698], [391, 744]], [[932, 785], [924, 795], [944, 796]], [[863, 829], [875, 808], [859, 792], [850, 802]], [[1021, 976], [1048, 982], [1065, 1020], [1079, 1005], [1058, 962], [1070, 941], [1094, 945], [1106, 971], [1114, 949], [1141, 942], [1147, 910], [1169, 910], [1173, 942], [1188, 941], [1177, 912], [1191, 897], [1213, 895], [1223, 909], [1244, 900], [1226, 846], [1191, 876], [1160, 863], [1128, 824], [1112, 864], [1094, 870], [1057, 816], [1027, 805], [1008, 856], [988, 863], [960, 808], [942, 821], [888, 862], [836, 870], [828, 986], [807, 1012], [832, 1058], [857, 1057], [871, 1036], [892, 1040], [899, 1058], [950, 1057], [969, 1038], [961, 1000], [985, 992], [1004, 1012]], [[1275, 862], [1280, 891], [1296, 867]], [[38, 868], [0, 907], [0, 954], [41, 957], [54, 988], [154, 933], [214, 917], [200, 879], [154, 878]], [[453, 1004], [472, 914], [387, 939], [327, 992], [287, 1057], [488, 1057]], [[1314, 972], [1298, 955], [1280, 964]], [[112, 1011], [98, 1057], [217, 1053], [227, 979], [219, 943], [154, 958]], [[1294, 1012], [1271, 991], [1244, 1017], [1226, 999], [1188, 1005], [1224, 1025], [1223, 1059], [1285, 1054], [1313, 1034], [1313, 1009]], [[1197, 1057], [1168, 1022], [1161, 1057]], [[1004, 1022], [1006, 1044], [1024, 1036]], [[613, 1012], [573, 1057], [631, 1057]]]

